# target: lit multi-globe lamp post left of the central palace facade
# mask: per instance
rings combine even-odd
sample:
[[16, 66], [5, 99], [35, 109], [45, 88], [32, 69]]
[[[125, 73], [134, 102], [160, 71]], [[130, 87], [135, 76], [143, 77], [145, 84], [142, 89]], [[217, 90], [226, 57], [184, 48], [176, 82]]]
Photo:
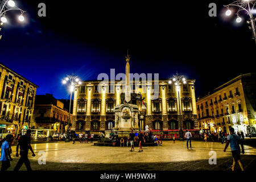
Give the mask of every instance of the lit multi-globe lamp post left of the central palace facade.
[[70, 83], [70, 86], [69, 86], [70, 101], [69, 101], [69, 115], [68, 115], [68, 130], [69, 130], [72, 93], [74, 92], [75, 86], [81, 85], [82, 82], [79, 80], [78, 76], [75, 76], [73, 73], [72, 75], [67, 75], [67, 77], [63, 79], [62, 83], [67, 84], [68, 81]]

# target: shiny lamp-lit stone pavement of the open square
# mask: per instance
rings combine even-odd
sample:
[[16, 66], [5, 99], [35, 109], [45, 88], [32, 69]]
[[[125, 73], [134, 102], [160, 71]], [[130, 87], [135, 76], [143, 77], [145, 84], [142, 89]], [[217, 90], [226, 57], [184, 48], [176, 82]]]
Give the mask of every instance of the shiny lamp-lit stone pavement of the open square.
[[[130, 152], [130, 147], [98, 147], [91, 143], [72, 144], [72, 142], [32, 144], [36, 156], [31, 153], [31, 167], [34, 170], [228, 170], [232, 164], [230, 149], [223, 152], [224, 144], [217, 142], [192, 142], [192, 150], [187, 150], [186, 142], [164, 141], [162, 146], [144, 147], [143, 152]], [[15, 154], [15, 146], [13, 147]], [[39, 151], [46, 154], [46, 164], [38, 164]], [[210, 165], [209, 152], [215, 151], [217, 164]], [[245, 146], [241, 155], [247, 171], [256, 167], [256, 148]], [[18, 158], [11, 162], [13, 170]], [[23, 165], [21, 170], [26, 170]], [[237, 168], [237, 170], [240, 170]]]

